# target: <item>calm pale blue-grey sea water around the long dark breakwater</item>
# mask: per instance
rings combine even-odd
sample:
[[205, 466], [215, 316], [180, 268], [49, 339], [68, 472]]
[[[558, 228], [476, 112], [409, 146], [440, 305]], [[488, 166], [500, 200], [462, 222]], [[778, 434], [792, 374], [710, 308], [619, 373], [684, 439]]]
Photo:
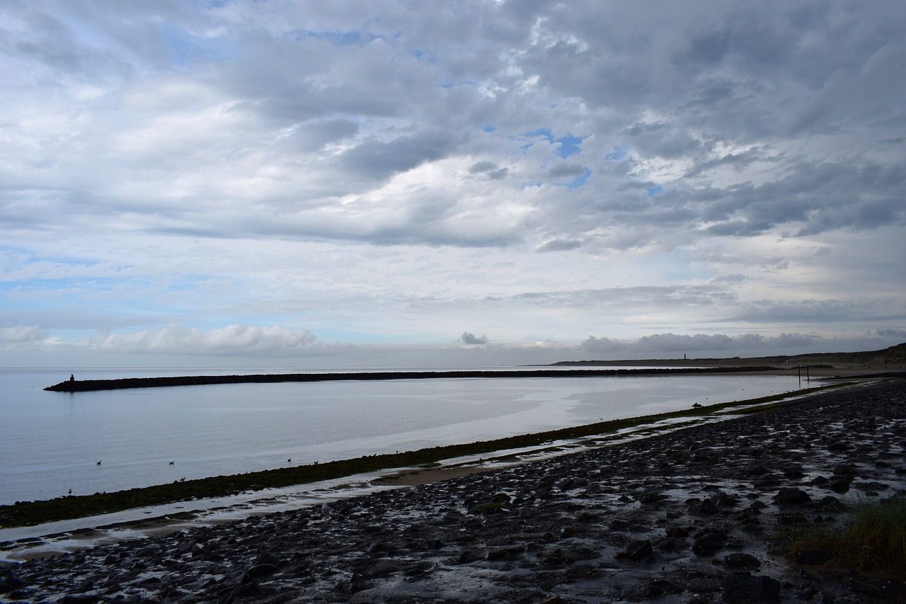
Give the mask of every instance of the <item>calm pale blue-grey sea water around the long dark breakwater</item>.
[[[92, 369], [76, 377], [293, 372]], [[795, 377], [701, 375], [43, 391], [68, 377], [0, 369], [0, 504], [489, 440], [798, 388]]]

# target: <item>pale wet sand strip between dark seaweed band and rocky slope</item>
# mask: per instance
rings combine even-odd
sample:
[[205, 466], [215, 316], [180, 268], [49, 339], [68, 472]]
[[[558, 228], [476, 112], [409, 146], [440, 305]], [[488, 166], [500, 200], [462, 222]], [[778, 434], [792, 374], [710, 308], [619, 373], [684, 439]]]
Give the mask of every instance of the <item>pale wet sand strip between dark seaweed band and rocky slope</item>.
[[[0, 529], [0, 567], [5, 563], [47, 558], [90, 549], [97, 545], [158, 537], [198, 527], [216, 526], [259, 515], [294, 510], [299, 507], [321, 505], [324, 502], [333, 504], [385, 490], [418, 487], [459, 478], [466, 479], [476, 474], [495, 472], [504, 468], [517, 468], [525, 464], [583, 453], [601, 447], [669, 436], [708, 424], [732, 421], [745, 414], [776, 410], [787, 405], [805, 403], [817, 396], [834, 395], [871, 385], [875, 385], [872, 380], [853, 382], [843, 385], [843, 391], [840, 390], [839, 385], [825, 385], [749, 401], [708, 405], [697, 412], [672, 412], [668, 414], [674, 416], [672, 418], [656, 418], [650, 422], [640, 422], [639, 420], [656, 416], [612, 420], [605, 424], [625, 425], [614, 428], [612, 431], [589, 432], [574, 438], [548, 441], [531, 447], [498, 448], [491, 451], [490, 454], [467, 454], [443, 460], [441, 463], [385, 467], [374, 472], [339, 476], [332, 480], [306, 482], [284, 488], [265, 488], [225, 497], [173, 501], [152, 507], [130, 508], [100, 516], [7, 527]], [[584, 427], [588, 426], [576, 426], [576, 428]], [[533, 434], [524, 436], [530, 437]]]

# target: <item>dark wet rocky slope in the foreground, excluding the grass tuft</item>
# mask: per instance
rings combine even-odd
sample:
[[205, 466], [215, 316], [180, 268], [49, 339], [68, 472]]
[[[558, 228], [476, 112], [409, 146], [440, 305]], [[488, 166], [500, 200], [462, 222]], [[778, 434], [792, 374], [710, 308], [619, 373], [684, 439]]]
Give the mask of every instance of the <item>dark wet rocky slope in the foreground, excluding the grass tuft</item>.
[[[882, 602], [784, 534], [892, 496], [906, 382], [0, 569], [5, 601]], [[807, 553], [807, 552], [806, 552]]]

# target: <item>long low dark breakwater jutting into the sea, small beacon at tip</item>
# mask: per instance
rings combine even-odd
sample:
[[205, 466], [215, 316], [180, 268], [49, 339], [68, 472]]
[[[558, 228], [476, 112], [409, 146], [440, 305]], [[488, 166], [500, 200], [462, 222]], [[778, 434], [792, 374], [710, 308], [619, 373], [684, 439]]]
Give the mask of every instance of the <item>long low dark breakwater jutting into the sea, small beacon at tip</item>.
[[275, 384], [280, 382], [335, 382], [342, 380], [383, 381], [442, 378], [513, 378], [513, 377], [619, 377], [631, 375], [705, 375], [757, 373], [774, 371], [767, 365], [717, 367], [662, 367], [641, 369], [533, 369], [504, 371], [381, 371], [330, 374], [257, 374], [257, 375], [176, 375], [169, 377], [127, 377], [110, 380], [66, 380], [47, 386], [51, 392], [92, 392], [127, 388], [159, 388], [180, 385]]

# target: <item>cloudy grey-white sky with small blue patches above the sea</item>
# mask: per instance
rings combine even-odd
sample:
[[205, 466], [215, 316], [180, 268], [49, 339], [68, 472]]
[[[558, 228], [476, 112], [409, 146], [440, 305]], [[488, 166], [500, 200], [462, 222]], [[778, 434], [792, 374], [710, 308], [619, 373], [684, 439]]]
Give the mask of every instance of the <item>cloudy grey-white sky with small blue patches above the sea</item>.
[[906, 342], [901, 0], [0, 4], [0, 366]]

